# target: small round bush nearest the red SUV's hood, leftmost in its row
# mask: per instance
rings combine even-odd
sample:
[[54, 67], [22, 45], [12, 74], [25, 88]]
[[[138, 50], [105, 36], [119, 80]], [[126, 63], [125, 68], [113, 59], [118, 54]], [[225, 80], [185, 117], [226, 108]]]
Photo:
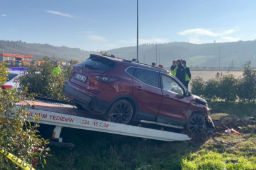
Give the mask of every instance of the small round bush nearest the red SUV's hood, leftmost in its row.
[[191, 93], [197, 96], [203, 96], [205, 90], [205, 82], [202, 77], [195, 77], [192, 79]]

